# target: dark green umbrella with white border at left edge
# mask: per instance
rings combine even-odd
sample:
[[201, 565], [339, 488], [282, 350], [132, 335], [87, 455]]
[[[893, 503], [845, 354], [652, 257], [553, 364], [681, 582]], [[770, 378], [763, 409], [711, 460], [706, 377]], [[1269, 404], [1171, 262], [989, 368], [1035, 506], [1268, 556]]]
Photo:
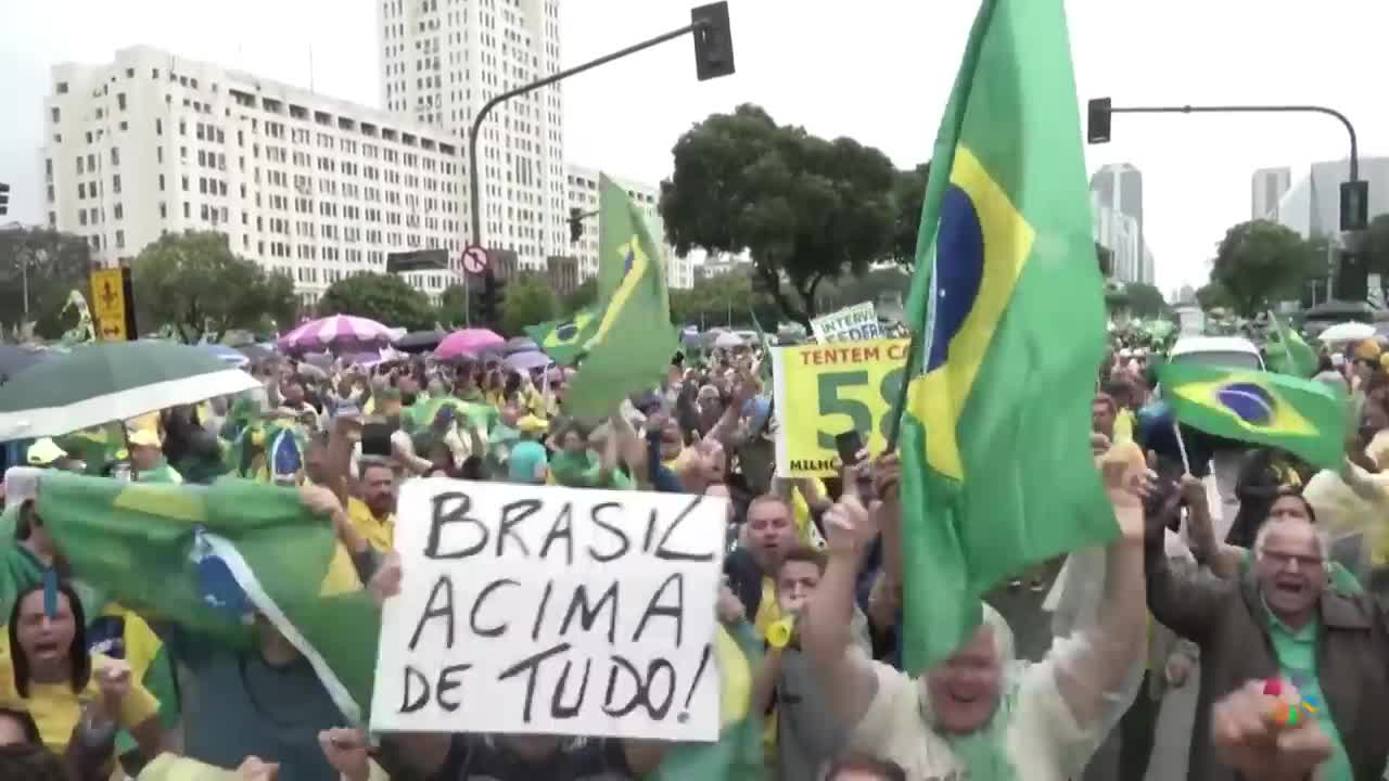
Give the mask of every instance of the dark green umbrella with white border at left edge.
[[258, 386], [254, 377], [201, 347], [81, 345], [0, 386], [0, 442], [58, 436]]

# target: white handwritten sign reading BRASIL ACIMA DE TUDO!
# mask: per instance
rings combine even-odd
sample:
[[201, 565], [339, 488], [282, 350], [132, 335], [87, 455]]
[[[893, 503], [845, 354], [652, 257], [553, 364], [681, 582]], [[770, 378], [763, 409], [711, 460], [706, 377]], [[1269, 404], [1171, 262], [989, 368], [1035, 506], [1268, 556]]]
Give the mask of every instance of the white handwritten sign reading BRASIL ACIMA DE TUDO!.
[[726, 499], [413, 479], [381, 731], [718, 737]]

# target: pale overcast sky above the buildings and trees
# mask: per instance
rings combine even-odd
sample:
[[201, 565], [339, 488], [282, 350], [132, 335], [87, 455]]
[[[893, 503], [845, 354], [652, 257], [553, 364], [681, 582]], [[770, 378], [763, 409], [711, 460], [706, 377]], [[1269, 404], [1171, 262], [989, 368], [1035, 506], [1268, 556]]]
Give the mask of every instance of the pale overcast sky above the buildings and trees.
[[[561, 0], [575, 64], [689, 21], [701, 0]], [[1042, 0], [1035, 0], [1042, 1]], [[849, 135], [899, 165], [931, 153], [978, 7], [974, 0], [731, 0], [738, 74], [694, 81], [689, 40], [565, 82], [565, 160], [656, 182], [692, 124], [758, 103], [785, 124]], [[1389, 153], [1386, 0], [1067, 0], [1079, 99], [1115, 106], [1321, 103], [1345, 111], [1361, 156]], [[378, 106], [375, 0], [0, 0], [0, 181], [11, 217], [40, 221], [49, 67], [150, 44]], [[1145, 231], [1164, 292], [1200, 285], [1225, 229], [1250, 217], [1250, 174], [1346, 156], [1326, 117], [1117, 117], [1093, 171], [1143, 171]]]

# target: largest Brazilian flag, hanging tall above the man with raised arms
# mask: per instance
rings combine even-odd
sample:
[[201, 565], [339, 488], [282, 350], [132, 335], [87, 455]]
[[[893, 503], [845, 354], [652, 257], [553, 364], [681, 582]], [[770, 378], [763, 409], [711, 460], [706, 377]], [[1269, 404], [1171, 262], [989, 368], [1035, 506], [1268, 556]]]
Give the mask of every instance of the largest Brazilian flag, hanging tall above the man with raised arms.
[[901, 418], [904, 660], [981, 595], [1117, 536], [1092, 461], [1104, 302], [1063, 0], [985, 0], [936, 136]]

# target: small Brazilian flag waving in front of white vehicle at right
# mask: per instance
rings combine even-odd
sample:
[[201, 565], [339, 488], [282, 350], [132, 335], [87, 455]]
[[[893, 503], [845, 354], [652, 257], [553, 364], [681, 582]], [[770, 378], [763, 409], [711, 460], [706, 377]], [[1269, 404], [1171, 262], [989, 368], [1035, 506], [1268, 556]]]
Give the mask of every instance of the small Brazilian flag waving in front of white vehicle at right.
[[1158, 370], [1176, 418], [1206, 434], [1288, 450], [1328, 470], [1346, 453], [1345, 392], [1282, 374], [1170, 363]]

